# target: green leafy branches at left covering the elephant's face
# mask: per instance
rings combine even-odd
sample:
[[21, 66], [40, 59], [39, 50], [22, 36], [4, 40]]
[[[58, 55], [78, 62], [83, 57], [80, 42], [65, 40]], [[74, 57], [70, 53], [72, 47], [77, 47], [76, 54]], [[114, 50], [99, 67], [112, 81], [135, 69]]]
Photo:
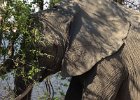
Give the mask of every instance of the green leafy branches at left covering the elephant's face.
[[0, 68], [10, 69], [25, 80], [33, 80], [41, 70], [38, 56], [43, 55], [36, 44], [40, 41], [41, 23], [31, 15], [31, 5], [21, 0], [8, 0], [1, 10]]

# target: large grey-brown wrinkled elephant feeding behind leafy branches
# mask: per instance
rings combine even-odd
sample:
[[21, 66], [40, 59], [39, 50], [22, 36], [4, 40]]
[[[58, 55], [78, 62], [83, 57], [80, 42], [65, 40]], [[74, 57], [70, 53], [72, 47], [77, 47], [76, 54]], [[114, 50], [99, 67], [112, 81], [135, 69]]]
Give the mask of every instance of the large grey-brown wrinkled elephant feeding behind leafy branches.
[[45, 41], [36, 47], [52, 55], [39, 56], [37, 80], [58, 71], [72, 77], [65, 100], [139, 100], [138, 12], [113, 0], [65, 0], [34, 16]]

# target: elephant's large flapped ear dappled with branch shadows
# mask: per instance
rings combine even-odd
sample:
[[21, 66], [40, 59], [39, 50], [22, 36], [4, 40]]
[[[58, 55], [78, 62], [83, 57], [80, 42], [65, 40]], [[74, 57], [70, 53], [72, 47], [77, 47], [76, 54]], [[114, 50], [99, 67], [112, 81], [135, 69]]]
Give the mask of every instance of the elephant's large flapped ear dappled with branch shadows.
[[109, 0], [77, 0], [79, 12], [70, 30], [62, 75], [77, 76], [123, 45], [130, 24], [122, 7]]

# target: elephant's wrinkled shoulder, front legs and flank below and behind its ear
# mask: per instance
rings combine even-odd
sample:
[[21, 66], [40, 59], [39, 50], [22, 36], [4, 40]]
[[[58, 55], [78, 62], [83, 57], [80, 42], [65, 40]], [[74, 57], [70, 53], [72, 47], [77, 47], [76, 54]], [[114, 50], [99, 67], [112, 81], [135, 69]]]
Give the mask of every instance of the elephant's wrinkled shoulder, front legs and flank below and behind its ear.
[[65, 100], [139, 100], [140, 28], [131, 26], [125, 45], [72, 78]]

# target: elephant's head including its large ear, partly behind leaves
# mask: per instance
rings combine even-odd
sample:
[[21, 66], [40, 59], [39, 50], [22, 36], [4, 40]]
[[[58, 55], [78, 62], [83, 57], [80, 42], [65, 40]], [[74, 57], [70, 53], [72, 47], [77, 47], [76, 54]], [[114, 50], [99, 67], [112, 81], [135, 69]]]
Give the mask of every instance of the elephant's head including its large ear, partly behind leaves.
[[58, 62], [50, 63], [57, 63], [64, 76], [77, 76], [118, 51], [130, 23], [124, 17], [125, 10], [109, 0], [74, 0], [66, 4], [61, 10], [58, 6], [53, 12], [44, 11], [40, 18], [46, 31], [44, 40], [51, 37], [54, 57], [54, 52], [59, 52]]

